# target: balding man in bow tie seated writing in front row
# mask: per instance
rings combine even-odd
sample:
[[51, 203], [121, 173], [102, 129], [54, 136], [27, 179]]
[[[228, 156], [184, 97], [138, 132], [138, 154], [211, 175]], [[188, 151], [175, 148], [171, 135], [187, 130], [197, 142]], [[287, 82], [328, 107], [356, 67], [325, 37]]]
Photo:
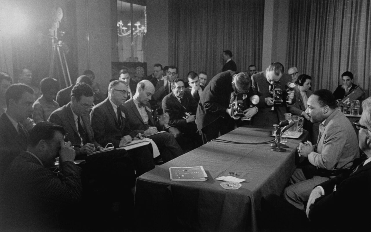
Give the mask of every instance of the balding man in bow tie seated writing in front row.
[[124, 113], [130, 128], [138, 130], [142, 135], [153, 139], [160, 150], [162, 160], [167, 162], [182, 155], [183, 151], [175, 137], [170, 133], [163, 132], [152, 135], [157, 133], [158, 130], [162, 130], [164, 125], [168, 123], [166, 117], [162, 117], [159, 122], [155, 122], [152, 117], [149, 101], [154, 92], [155, 87], [149, 80], [139, 82], [134, 97], [124, 104]]

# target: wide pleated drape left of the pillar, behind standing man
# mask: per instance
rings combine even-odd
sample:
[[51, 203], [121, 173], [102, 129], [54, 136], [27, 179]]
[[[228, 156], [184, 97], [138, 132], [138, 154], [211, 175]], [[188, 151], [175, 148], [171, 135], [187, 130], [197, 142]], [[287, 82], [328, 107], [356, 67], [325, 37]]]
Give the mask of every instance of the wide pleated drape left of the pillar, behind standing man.
[[230, 50], [237, 71], [261, 70], [264, 1], [170, 0], [169, 65], [180, 78], [190, 71], [221, 72], [222, 52]]

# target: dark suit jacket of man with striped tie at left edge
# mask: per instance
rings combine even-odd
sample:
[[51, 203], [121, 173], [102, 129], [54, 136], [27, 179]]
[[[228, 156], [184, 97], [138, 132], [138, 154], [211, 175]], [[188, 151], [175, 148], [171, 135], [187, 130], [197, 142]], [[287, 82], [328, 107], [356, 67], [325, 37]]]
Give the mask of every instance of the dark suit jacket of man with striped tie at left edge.
[[0, 116], [0, 149], [18, 153], [27, 150], [27, 141], [19, 135], [5, 113]]

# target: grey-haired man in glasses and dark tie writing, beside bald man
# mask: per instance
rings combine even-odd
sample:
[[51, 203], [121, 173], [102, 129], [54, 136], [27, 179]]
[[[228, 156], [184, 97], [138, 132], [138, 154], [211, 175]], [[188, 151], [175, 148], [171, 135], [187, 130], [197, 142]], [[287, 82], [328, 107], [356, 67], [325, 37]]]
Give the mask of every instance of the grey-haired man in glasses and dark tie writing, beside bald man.
[[[120, 142], [130, 141], [141, 137], [138, 130], [132, 131], [124, 111], [128, 87], [122, 80], [114, 80], [108, 86], [108, 98], [94, 106], [90, 115], [95, 139], [106, 146], [112, 143], [118, 148]], [[148, 172], [155, 167], [150, 145], [141, 146], [128, 151], [129, 156], [138, 164], [137, 174]]]

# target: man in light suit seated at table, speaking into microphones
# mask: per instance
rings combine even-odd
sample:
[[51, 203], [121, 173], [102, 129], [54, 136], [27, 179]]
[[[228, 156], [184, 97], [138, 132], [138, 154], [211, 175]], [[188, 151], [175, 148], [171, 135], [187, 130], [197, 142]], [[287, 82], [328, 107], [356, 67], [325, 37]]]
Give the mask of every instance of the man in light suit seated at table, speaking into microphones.
[[299, 143], [299, 155], [308, 157], [309, 166], [296, 168], [283, 193], [295, 207], [305, 210], [304, 202], [314, 186], [348, 172], [359, 157], [357, 135], [352, 124], [336, 109], [336, 100], [329, 90], [313, 92], [308, 98], [306, 113], [312, 123], [321, 122], [316, 145]]

